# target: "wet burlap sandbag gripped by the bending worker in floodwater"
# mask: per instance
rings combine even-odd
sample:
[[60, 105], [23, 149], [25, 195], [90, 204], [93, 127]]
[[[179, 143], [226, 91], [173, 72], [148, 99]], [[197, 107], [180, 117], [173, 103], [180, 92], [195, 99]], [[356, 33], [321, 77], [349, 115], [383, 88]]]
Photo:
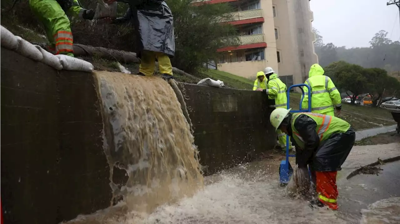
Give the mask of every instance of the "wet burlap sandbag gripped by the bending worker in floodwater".
[[310, 189], [310, 175], [307, 167], [294, 167], [293, 174], [285, 188], [288, 196], [306, 196]]

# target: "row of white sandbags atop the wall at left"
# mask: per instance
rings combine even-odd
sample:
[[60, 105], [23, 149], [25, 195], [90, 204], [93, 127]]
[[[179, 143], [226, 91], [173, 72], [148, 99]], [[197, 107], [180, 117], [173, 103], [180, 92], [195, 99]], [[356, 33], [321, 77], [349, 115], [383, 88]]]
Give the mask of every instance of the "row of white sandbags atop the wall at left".
[[19, 36], [12, 34], [0, 25], [0, 46], [10, 49], [34, 61], [40, 61], [57, 70], [72, 70], [92, 72], [92, 63], [70, 57], [68, 55], [53, 55], [38, 45], [33, 45]]

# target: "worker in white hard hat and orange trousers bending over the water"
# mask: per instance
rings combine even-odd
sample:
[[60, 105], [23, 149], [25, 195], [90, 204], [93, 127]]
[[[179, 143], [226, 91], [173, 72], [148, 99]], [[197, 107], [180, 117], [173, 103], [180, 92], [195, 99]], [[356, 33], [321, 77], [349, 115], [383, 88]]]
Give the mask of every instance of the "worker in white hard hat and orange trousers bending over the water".
[[310, 165], [320, 207], [338, 209], [336, 174], [356, 139], [350, 124], [334, 116], [315, 113], [290, 113], [278, 108], [270, 115], [272, 126], [288, 134], [296, 143], [296, 164]]

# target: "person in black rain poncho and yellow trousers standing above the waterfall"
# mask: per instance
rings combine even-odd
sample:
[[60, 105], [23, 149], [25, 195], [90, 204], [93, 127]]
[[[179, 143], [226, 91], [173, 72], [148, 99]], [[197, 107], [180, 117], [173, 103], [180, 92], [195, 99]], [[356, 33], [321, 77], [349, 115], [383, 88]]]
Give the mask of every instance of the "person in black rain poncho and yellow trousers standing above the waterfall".
[[137, 56], [140, 58], [138, 75], [152, 76], [156, 59], [162, 77], [174, 79], [170, 57], [175, 54], [174, 17], [163, 0], [108, 0], [124, 2], [130, 8], [114, 23], [132, 20], [135, 28]]

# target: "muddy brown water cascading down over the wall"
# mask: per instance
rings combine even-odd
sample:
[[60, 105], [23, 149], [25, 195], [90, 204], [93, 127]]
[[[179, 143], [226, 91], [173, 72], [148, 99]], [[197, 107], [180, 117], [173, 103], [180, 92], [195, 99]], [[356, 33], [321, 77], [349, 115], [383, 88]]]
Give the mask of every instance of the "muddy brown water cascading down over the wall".
[[[198, 151], [170, 85], [155, 77], [96, 72], [102, 98], [104, 148], [113, 196], [128, 210], [151, 212], [203, 186]], [[122, 186], [115, 169], [126, 171]]]

